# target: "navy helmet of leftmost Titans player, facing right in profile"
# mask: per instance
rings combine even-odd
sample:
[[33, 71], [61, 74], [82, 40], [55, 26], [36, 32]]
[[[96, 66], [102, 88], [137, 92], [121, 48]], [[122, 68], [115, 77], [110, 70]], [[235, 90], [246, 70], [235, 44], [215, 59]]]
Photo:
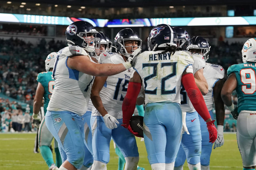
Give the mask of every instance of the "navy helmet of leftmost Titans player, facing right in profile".
[[[86, 21], [76, 21], [70, 24], [66, 31], [66, 41], [70, 45], [78, 45], [87, 52], [94, 52], [94, 45], [100, 42], [99, 38], [87, 38], [98, 33], [92, 24]], [[97, 41], [96, 41], [97, 40]], [[95, 45], [95, 46], [99, 46]]]

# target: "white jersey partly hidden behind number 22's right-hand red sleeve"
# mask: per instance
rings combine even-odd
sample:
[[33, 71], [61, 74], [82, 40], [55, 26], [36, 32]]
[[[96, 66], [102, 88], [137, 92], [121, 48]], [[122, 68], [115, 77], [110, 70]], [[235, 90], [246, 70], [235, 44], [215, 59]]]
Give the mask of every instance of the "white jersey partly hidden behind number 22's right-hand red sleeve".
[[[193, 75], [196, 73], [196, 71], [202, 69], [205, 67], [206, 63], [204, 61], [204, 58], [201, 54], [192, 54], [192, 57], [194, 59], [194, 64], [192, 65], [193, 67]], [[185, 88], [182, 86], [180, 90], [180, 108], [182, 112], [195, 112], [196, 110], [194, 109], [188, 94], [185, 90]]]

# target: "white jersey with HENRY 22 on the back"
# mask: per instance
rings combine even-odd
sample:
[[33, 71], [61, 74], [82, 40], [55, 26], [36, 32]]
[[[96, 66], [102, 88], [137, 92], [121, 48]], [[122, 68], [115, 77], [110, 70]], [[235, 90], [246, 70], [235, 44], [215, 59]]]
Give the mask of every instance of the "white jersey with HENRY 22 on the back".
[[135, 60], [145, 91], [145, 103], [179, 103], [181, 77], [194, 60], [190, 53], [176, 51], [174, 55], [162, 51], [145, 51]]

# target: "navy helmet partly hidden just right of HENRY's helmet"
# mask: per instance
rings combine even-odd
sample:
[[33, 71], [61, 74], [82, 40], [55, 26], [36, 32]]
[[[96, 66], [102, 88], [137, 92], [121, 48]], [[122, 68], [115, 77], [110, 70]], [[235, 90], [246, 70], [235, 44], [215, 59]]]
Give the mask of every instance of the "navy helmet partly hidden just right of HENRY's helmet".
[[189, 35], [186, 30], [181, 27], [173, 27], [175, 32], [177, 33], [177, 47], [181, 48], [182, 50], [189, 49]]

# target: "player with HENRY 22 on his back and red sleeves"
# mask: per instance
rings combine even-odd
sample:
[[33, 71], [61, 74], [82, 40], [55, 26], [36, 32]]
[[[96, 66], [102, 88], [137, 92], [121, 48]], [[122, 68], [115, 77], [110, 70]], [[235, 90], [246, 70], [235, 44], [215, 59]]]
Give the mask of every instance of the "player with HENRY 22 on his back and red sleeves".
[[143, 82], [146, 103], [143, 135], [149, 163], [152, 169], [157, 170], [174, 169], [182, 137], [182, 111], [179, 106], [181, 83], [193, 106], [206, 121], [210, 142], [217, 138], [214, 120], [194, 80], [193, 58], [190, 53], [176, 48], [176, 39], [177, 34], [170, 25], [160, 24], [151, 30], [148, 37], [149, 51], [136, 57], [136, 72], [129, 80], [122, 105], [122, 126], [140, 136], [132, 130], [129, 121]]

